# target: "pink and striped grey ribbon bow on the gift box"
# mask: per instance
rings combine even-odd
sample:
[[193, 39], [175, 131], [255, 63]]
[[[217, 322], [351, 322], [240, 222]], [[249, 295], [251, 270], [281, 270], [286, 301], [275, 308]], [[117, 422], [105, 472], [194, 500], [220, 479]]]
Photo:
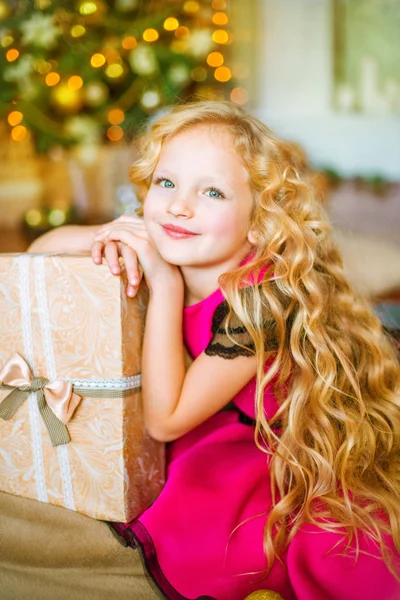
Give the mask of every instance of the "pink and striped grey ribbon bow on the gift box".
[[56, 379], [49, 382], [45, 377], [33, 377], [25, 360], [15, 353], [0, 370], [0, 384], [2, 389], [10, 389], [10, 393], [0, 404], [2, 419], [11, 419], [26, 398], [35, 392], [38, 408], [53, 446], [67, 444], [71, 440], [66, 423], [72, 417], [81, 397], [72, 391], [69, 381]]

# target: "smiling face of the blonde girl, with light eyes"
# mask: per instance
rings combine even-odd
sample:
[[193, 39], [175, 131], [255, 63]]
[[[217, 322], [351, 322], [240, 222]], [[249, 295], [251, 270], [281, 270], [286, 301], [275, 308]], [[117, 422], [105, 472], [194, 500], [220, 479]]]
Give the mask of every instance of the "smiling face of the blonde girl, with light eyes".
[[223, 273], [250, 248], [252, 207], [249, 174], [230, 132], [197, 125], [164, 143], [144, 221], [167, 262]]

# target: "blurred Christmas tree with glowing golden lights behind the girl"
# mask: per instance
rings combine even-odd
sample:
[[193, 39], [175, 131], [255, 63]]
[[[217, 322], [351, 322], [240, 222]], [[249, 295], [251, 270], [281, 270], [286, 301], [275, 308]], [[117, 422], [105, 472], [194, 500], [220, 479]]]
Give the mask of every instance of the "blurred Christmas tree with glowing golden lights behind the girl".
[[0, 0], [0, 119], [13, 140], [32, 132], [46, 152], [129, 139], [181, 99], [227, 98], [226, 9], [225, 0]]

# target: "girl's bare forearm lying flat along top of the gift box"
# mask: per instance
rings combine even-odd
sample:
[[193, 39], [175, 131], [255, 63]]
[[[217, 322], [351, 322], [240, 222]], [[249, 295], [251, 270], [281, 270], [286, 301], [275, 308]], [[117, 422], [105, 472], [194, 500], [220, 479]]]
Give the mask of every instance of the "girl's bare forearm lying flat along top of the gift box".
[[32, 242], [27, 252], [89, 254], [98, 225], [65, 225], [48, 231]]

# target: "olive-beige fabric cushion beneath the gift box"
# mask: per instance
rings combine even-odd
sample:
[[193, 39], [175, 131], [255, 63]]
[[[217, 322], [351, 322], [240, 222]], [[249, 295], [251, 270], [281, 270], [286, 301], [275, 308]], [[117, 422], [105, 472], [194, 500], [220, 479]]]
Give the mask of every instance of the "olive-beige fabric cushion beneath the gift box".
[[138, 550], [109, 526], [0, 492], [1, 600], [155, 600]]

